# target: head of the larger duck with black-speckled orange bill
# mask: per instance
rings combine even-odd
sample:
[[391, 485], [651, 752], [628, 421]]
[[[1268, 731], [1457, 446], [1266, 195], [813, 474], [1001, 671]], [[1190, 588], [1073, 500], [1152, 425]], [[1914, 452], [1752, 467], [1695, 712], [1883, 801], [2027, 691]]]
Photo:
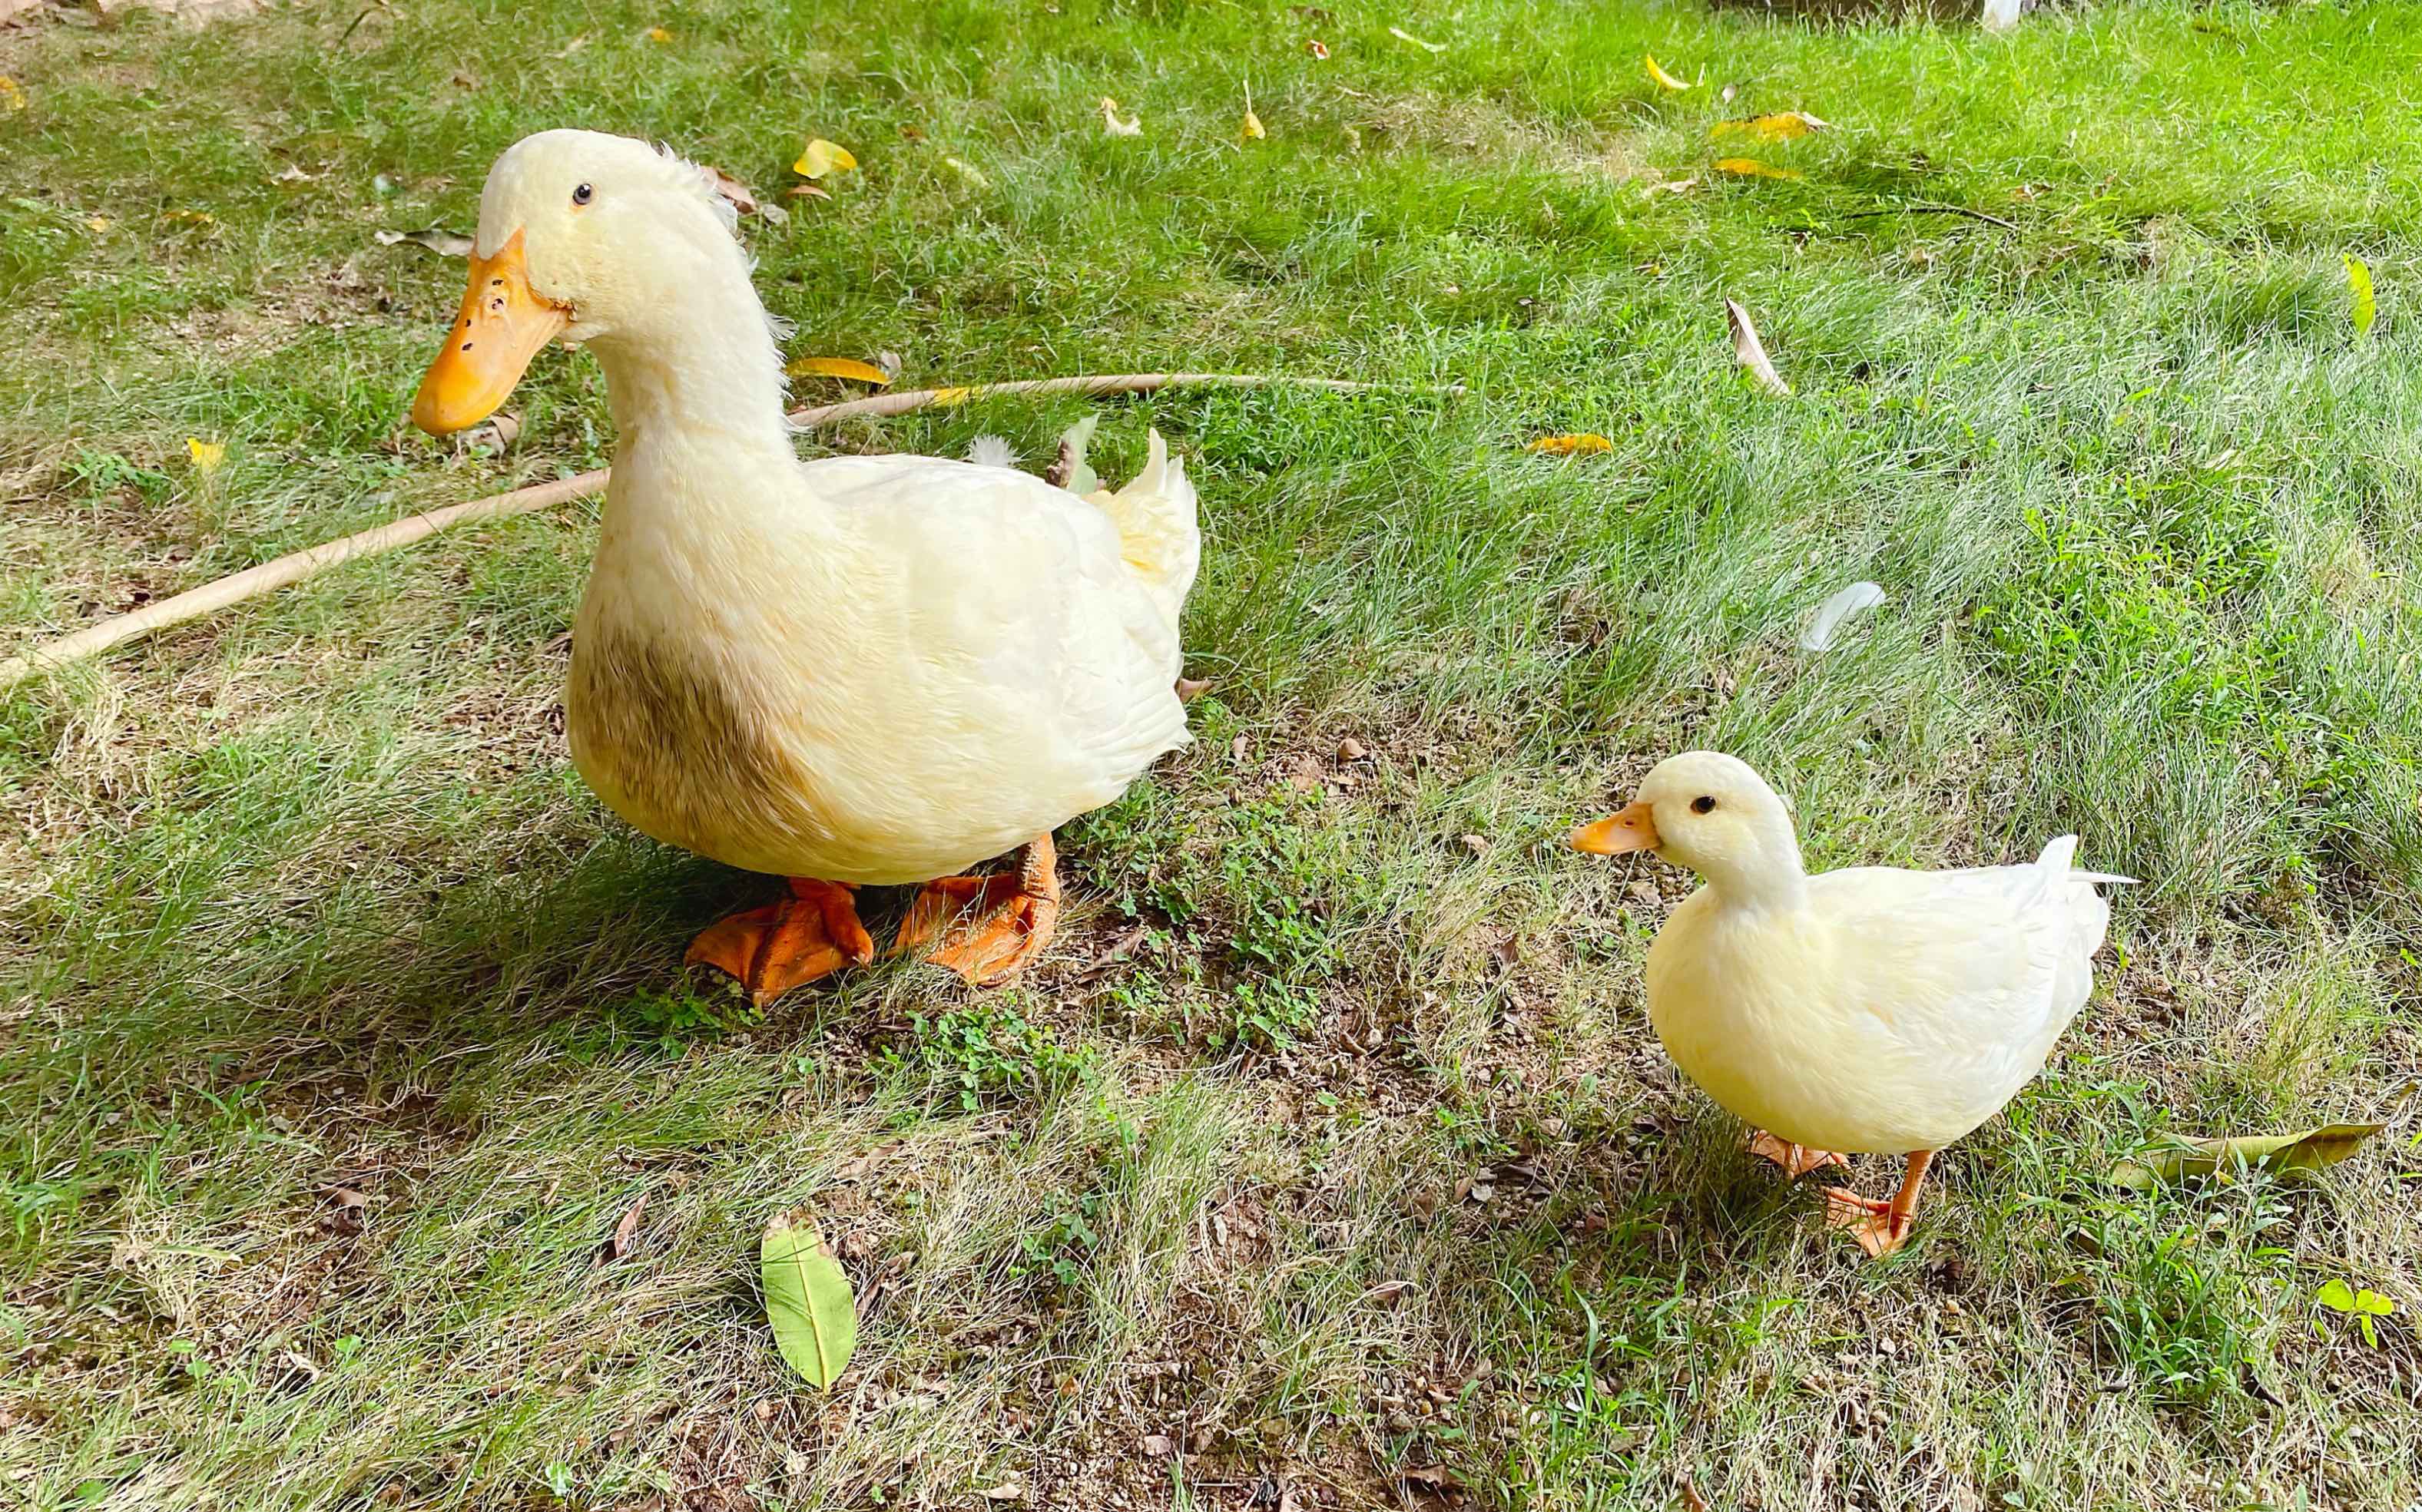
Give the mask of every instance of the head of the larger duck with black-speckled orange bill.
[[593, 344], [608, 380], [618, 356], [700, 371], [773, 361], [780, 405], [780, 361], [731, 228], [731, 206], [671, 153], [598, 131], [521, 138], [480, 191], [470, 288], [412, 424], [431, 436], [480, 424], [557, 337]]

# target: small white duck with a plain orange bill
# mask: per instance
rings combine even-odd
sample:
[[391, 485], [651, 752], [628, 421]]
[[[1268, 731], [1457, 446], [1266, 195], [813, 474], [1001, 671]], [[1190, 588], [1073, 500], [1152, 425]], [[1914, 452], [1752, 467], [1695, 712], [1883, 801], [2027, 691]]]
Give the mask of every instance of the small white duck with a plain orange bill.
[[1909, 1241], [1935, 1153], [2044, 1069], [2095, 986], [2100, 884], [2131, 882], [2073, 870], [2078, 836], [2032, 865], [1812, 877], [1783, 797], [1722, 751], [1659, 761], [1569, 843], [1698, 872], [1649, 945], [1649, 1025], [1787, 1178], [1901, 1156], [1889, 1199], [1824, 1190], [1826, 1219], [1877, 1258]]

